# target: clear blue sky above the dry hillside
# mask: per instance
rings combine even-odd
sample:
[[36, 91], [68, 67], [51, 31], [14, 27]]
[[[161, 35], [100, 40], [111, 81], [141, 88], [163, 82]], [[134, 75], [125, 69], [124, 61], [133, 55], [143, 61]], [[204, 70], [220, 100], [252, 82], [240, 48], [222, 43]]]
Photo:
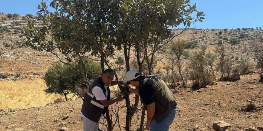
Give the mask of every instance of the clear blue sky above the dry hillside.
[[[203, 22], [191, 27], [201, 29], [236, 29], [263, 27], [263, 0], [190, 0], [206, 14]], [[0, 12], [36, 15], [41, 0], [0, 0]], [[51, 0], [47, 1], [49, 3]], [[49, 7], [48, 9], [52, 9]], [[180, 26], [182, 27], [182, 26]]]

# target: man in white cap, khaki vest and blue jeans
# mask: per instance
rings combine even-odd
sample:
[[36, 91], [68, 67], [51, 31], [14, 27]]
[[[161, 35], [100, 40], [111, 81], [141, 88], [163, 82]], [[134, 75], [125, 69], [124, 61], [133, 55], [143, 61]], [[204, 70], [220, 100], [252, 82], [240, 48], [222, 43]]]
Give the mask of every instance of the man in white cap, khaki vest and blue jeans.
[[177, 102], [165, 82], [156, 76], [140, 76], [135, 70], [126, 73], [124, 82], [137, 87], [130, 88], [130, 93], [139, 95], [146, 107], [146, 130], [168, 131], [175, 118]]

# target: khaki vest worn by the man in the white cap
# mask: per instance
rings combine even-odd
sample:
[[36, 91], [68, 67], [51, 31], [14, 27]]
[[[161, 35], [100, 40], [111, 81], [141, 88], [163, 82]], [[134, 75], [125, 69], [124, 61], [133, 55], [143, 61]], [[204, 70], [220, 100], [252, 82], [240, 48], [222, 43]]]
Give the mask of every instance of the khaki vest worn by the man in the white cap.
[[[166, 116], [169, 115], [171, 110], [173, 110], [176, 107], [177, 102], [175, 96], [167, 87], [165, 82], [156, 76], [146, 75], [139, 77], [140, 97], [141, 97], [140, 89], [142, 88], [143, 85], [153, 86], [154, 89], [153, 98], [155, 102], [155, 113], [153, 119], [157, 123], [160, 123], [164, 118], [166, 118]], [[143, 105], [146, 107], [147, 110], [147, 105], [143, 102], [142, 99], [141, 102], [143, 103]]]

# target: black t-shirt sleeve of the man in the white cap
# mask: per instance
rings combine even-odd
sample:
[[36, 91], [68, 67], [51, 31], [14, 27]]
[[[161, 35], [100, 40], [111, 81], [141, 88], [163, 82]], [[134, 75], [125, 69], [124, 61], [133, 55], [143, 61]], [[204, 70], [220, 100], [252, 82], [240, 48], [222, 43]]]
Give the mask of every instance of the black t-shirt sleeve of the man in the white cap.
[[152, 85], [143, 85], [140, 89], [140, 96], [146, 105], [152, 104], [154, 102]]

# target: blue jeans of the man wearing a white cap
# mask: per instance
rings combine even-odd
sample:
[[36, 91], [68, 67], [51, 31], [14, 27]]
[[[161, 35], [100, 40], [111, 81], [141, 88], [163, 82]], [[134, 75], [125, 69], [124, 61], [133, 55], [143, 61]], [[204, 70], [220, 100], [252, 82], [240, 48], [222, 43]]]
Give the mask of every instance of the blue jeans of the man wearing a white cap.
[[152, 119], [150, 125], [150, 131], [168, 131], [169, 126], [172, 124], [172, 121], [175, 119], [176, 108], [171, 111], [171, 113], [166, 116], [159, 124]]

